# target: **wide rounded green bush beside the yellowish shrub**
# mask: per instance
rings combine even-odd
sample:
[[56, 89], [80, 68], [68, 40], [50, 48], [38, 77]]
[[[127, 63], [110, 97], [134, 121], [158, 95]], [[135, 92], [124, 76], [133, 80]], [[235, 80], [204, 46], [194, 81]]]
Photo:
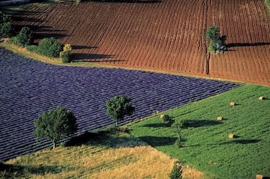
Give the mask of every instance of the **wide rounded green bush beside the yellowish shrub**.
[[64, 45], [57, 41], [54, 37], [44, 38], [38, 44], [37, 52], [41, 55], [51, 58], [58, 58], [60, 52], [63, 50]]

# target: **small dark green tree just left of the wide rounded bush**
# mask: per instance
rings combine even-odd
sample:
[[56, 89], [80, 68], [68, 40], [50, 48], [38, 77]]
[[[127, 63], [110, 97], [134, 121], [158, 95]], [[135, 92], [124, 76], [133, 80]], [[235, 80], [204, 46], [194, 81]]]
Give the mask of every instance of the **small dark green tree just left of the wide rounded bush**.
[[29, 27], [23, 27], [19, 34], [16, 36], [16, 45], [25, 47], [33, 42], [32, 32]]

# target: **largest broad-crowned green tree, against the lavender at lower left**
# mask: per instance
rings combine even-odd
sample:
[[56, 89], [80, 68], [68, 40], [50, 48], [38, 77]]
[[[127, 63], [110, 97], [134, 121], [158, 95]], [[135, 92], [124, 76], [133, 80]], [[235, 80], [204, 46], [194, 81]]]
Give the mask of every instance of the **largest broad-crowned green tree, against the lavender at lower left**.
[[56, 110], [43, 112], [37, 120], [34, 120], [35, 130], [33, 135], [38, 138], [48, 138], [53, 142], [53, 148], [56, 143], [64, 137], [73, 135], [78, 130], [74, 114], [64, 108], [57, 107]]

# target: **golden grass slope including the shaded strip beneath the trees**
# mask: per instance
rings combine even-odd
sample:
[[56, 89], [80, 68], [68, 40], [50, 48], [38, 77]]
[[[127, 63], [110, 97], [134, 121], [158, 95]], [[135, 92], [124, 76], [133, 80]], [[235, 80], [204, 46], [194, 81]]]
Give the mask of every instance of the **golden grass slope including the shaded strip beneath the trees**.
[[[126, 133], [95, 132], [83, 136], [75, 137], [69, 147], [44, 150], [5, 162], [4, 170], [1, 171], [4, 167], [0, 166], [0, 178], [167, 179], [177, 160]], [[186, 167], [185, 176], [199, 179], [202, 173]]]

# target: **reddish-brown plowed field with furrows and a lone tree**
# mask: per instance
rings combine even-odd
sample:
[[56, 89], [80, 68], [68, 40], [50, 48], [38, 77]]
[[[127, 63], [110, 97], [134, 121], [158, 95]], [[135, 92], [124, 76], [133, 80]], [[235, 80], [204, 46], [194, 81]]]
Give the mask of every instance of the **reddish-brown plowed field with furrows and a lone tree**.
[[[270, 15], [264, 0], [83, 1], [34, 5], [14, 24], [37, 41], [71, 44], [76, 61], [270, 85]], [[229, 51], [211, 55], [218, 26]]]

